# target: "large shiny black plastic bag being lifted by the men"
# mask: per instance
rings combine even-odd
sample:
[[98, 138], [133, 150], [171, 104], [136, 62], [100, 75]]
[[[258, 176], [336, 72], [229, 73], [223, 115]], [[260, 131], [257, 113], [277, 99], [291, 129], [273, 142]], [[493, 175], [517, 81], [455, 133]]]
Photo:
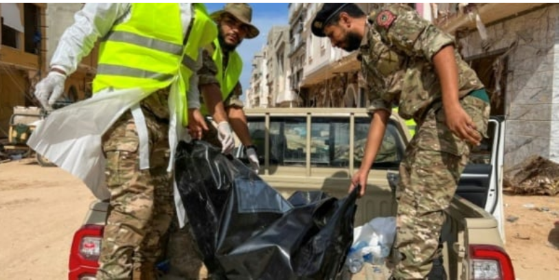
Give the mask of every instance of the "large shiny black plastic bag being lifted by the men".
[[336, 279], [353, 240], [357, 189], [286, 200], [209, 143], [180, 142], [176, 154], [176, 185], [212, 277]]

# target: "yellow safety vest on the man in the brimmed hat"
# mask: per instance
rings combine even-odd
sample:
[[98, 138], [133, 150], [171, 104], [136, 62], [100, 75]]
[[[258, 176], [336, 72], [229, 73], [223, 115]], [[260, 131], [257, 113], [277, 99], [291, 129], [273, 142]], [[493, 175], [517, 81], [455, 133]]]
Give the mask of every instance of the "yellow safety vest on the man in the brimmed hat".
[[[214, 40], [214, 53], [212, 54], [212, 59], [216, 62], [216, 67], [218, 69], [218, 74], [216, 78], [220, 84], [221, 97], [223, 101], [227, 100], [227, 97], [231, 95], [233, 89], [239, 82], [240, 74], [242, 72], [242, 58], [239, 56], [237, 51], [232, 51], [229, 53], [229, 61], [227, 62], [227, 69], [223, 73], [223, 51], [221, 45], [219, 44], [219, 39]], [[209, 110], [205, 104], [201, 104], [201, 113], [203, 115], [209, 115]]]

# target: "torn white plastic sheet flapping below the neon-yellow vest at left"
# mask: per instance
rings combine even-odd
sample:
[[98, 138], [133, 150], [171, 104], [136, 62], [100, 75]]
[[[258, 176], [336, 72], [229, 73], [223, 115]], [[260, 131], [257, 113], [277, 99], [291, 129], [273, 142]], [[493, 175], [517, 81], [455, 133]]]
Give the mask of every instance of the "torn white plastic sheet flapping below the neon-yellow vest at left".
[[82, 179], [95, 197], [110, 197], [105, 182], [101, 137], [134, 104], [150, 94], [141, 89], [103, 91], [55, 110], [32, 133], [27, 145]]

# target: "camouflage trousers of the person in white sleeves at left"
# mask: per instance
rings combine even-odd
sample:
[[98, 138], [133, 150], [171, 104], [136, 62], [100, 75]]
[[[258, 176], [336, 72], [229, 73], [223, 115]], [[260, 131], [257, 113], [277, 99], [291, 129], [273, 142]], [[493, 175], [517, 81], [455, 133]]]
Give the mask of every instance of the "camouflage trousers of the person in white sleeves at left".
[[152, 279], [161, 255], [161, 238], [174, 214], [172, 176], [167, 172], [168, 124], [145, 107], [142, 110], [148, 128], [148, 170], [139, 170], [139, 138], [130, 112], [124, 113], [103, 137], [111, 200], [98, 280], [130, 279], [133, 274]]

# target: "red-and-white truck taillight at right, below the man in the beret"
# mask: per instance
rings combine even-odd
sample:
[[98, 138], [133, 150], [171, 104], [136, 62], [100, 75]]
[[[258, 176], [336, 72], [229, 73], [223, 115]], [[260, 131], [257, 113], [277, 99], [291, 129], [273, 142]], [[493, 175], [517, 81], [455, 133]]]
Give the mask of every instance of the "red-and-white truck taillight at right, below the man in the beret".
[[472, 279], [514, 280], [514, 268], [509, 255], [492, 245], [470, 245]]

